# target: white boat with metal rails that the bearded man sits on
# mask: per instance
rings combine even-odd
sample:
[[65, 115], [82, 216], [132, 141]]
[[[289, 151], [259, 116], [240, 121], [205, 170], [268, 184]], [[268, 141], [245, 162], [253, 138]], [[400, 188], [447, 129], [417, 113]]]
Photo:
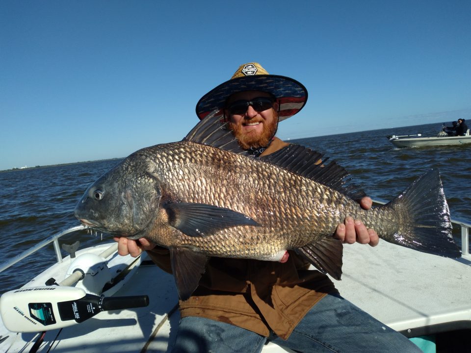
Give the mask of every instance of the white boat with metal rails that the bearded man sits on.
[[[374, 248], [353, 244], [344, 246], [342, 280], [334, 280], [343, 297], [409, 337], [427, 353], [471, 350], [471, 223], [451, 221], [461, 227], [461, 258], [417, 252], [382, 240]], [[138, 258], [119, 256], [114, 242], [81, 250], [77, 243], [62, 244], [69, 252], [62, 256], [59, 239], [84, 229], [76, 226], [63, 230], [0, 265], [1, 273], [13, 264], [27, 264], [30, 256], [53, 244], [56, 258], [51, 259], [52, 265], [13, 294], [9, 291], [0, 298], [0, 352], [144, 353], [167, 352], [172, 347], [179, 321], [173, 277], [161, 271], [145, 253]], [[64, 298], [40, 289], [44, 287], [58, 289]], [[34, 296], [27, 297], [30, 293]], [[114, 298], [121, 306], [94, 312], [93, 317], [80, 323], [73, 315], [60, 316], [63, 327], [37, 325], [29, 329], [32, 324], [27, 320], [27, 309], [21, 310], [21, 296], [34, 298], [34, 302], [63, 302], [70, 299], [69, 293]], [[8, 301], [16, 304], [4, 305]], [[31, 308], [31, 303], [28, 305]], [[38, 309], [37, 305], [34, 308]], [[41, 312], [30, 312], [41, 316]], [[268, 343], [262, 352], [292, 351]]]

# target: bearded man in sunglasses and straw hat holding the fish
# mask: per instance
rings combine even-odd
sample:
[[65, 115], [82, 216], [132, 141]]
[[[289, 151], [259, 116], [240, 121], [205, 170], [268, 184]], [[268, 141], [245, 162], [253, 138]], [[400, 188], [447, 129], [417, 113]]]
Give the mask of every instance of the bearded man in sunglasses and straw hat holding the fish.
[[[203, 96], [196, 112], [203, 119], [217, 110], [239, 145], [257, 158], [288, 146], [275, 137], [278, 122], [296, 114], [306, 100], [307, 90], [298, 81], [249, 63]], [[368, 209], [371, 199], [361, 204]], [[378, 244], [376, 232], [351, 217], [335, 236], [344, 243]], [[147, 250], [157, 265], [171, 271], [166, 249], [145, 239], [118, 241], [120, 254]], [[420, 352], [341, 298], [329, 277], [308, 270], [295, 252], [288, 254], [280, 262], [211, 258], [198, 288], [180, 302], [172, 352], [260, 352], [267, 339], [297, 352]]]

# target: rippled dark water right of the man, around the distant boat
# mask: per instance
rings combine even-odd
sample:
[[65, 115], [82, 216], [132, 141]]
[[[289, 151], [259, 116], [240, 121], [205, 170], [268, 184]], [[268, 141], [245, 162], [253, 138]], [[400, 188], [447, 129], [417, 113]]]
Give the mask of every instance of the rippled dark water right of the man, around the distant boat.
[[372, 197], [392, 200], [418, 176], [438, 168], [452, 218], [471, 220], [471, 145], [395, 148], [387, 135], [435, 136], [441, 124], [408, 126], [300, 139], [294, 142], [321, 151], [351, 174]]

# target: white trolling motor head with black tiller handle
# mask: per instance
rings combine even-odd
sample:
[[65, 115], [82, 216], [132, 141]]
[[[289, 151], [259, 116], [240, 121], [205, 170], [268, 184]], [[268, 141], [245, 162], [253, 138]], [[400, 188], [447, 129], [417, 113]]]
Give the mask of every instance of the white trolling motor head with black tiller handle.
[[101, 311], [149, 305], [149, 297], [101, 297], [82, 288], [42, 286], [12, 290], [0, 298], [0, 314], [12, 332], [38, 332], [81, 323]]

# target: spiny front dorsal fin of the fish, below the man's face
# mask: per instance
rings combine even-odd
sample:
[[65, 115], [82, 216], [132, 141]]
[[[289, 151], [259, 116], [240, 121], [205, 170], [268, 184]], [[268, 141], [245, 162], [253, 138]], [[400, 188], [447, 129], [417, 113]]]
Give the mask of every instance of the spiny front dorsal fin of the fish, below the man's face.
[[246, 155], [247, 157], [253, 156], [240, 147], [234, 134], [229, 129], [228, 123], [224, 122], [221, 115], [216, 115], [216, 113], [217, 111], [213, 111], [201, 120], [188, 132], [183, 141], [196, 142], [224, 151]]

